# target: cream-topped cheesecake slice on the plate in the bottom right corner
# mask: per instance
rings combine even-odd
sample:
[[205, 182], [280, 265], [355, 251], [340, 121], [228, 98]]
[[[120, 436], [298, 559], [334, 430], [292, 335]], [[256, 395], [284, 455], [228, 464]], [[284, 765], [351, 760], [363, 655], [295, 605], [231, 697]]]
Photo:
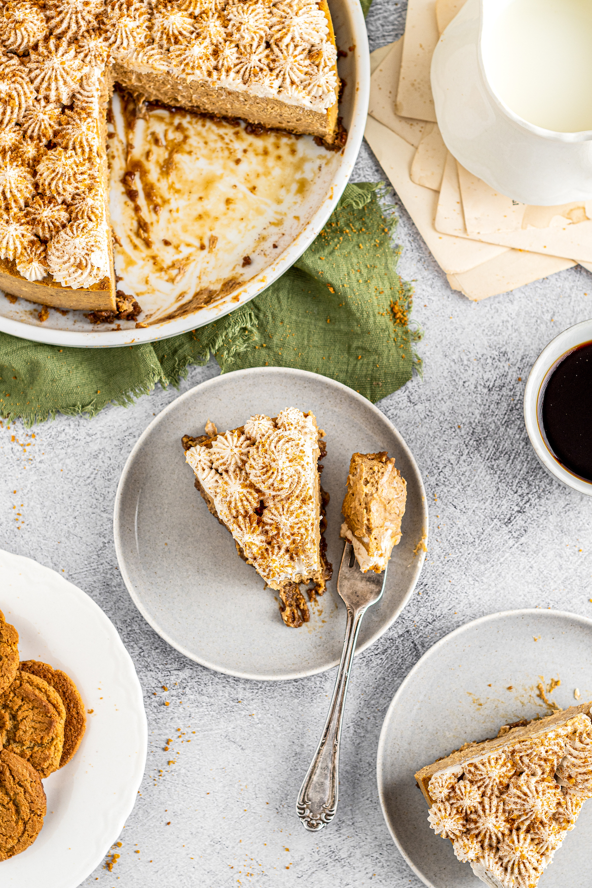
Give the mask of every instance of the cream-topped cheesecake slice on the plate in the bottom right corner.
[[503, 725], [415, 774], [431, 829], [490, 888], [536, 888], [592, 797], [591, 705]]

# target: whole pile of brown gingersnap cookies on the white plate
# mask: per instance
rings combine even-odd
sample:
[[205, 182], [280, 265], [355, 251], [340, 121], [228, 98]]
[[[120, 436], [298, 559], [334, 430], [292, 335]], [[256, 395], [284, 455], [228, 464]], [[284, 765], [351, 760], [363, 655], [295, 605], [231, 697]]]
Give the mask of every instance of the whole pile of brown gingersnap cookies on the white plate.
[[0, 611], [0, 860], [35, 842], [45, 777], [67, 765], [86, 727], [75, 683], [47, 663], [19, 662], [19, 633]]

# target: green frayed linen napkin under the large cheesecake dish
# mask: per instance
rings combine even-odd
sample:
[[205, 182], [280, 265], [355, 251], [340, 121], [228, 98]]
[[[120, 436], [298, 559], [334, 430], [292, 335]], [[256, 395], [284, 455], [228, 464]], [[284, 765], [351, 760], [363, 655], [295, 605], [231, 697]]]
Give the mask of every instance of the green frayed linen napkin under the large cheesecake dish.
[[[392, 209], [375, 183], [348, 185], [296, 264], [246, 305], [181, 336], [120, 348], [43, 345], [0, 333], [0, 414], [26, 425], [56, 413], [95, 416], [161, 385], [178, 385], [213, 354], [223, 373], [296, 367], [369, 400], [421, 372], [409, 325], [412, 289], [397, 274]], [[2, 298], [2, 297], [0, 297]]]

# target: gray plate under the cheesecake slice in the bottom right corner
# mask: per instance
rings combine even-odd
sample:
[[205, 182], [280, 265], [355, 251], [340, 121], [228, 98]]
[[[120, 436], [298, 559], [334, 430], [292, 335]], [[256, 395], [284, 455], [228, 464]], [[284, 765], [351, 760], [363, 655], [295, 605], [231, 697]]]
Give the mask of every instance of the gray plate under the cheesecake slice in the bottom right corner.
[[[537, 638], [537, 641], [534, 641]], [[478, 888], [468, 863], [428, 825], [414, 773], [462, 743], [494, 737], [500, 726], [549, 710], [536, 696], [544, 677], [561, 679], [551, 699], [563, 709], [592, 700], [592, 620], [550, 610], [491, 614], [441, 638], [399, 687], [378, 744], [384, 819], [409, 866], [430, 888]], [[512, 690], [509, 691], [509, 686]], [[584, 805], [540, 888], [588, 885], [592, 802]], [[588, 873], [588, 876], [584, 874]]]

